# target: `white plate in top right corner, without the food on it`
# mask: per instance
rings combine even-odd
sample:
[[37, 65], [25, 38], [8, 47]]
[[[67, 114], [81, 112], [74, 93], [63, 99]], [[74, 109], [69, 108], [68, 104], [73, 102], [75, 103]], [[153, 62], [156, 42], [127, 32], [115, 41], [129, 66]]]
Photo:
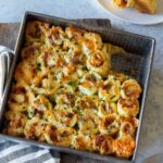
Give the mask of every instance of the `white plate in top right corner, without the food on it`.
[[112, 4], [112, 0], [98, 0], [110, 13], [116, 17], [134, 24], [150, 25], [163, 23], [163, 0], [156, 0], [156, 14], [139, 13], [134, 9], [117, 9]]

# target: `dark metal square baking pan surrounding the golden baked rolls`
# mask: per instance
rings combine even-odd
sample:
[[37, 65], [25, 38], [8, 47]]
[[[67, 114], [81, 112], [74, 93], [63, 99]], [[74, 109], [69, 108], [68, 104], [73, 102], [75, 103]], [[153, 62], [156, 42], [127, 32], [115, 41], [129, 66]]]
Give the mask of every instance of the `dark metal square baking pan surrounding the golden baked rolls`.
[[[5, 121], [4, 113], [7, 109], [10, 86], [12, 83], [15, 65], [20, 60], [20, 53], [21, 53], [21, 49], [24, 42], [26, 24], [28, 21], [41, 21], [41, 22], [46, 22], [52, 25], [61, 26], [63, 28], [66, 26], [73, 25], [73, 26], [84, 28], [90, 32], [95, 32], [101, 35], [103, 41], [123, 47], [127, 51], [125, 54], [120, 53], [120, 54], [113, 55], [112, 66], [115, 71], [123, 72], [136, 78], [139, 82], [143, 90], [139, 99], [140, 112], [139, 112], [138, 118], [139, 118], [140, 124], [136, 131], [136, 148], [135, 148], [133, 156], [129, 160], [114, 158], [110, 155], [101, 155], [98, 153], [91, 153], [91, 152], [80, 151], [80, 150], [65, 148], [65, 147], [52, 146], [46, 142], [39, 142], [35, 140], [28, 140], [25, 138], [8, 136], [8, 135], [2, 134], [2, 129], [4, 128], [4, 121]], [[5, 85], [4, 93], [2, 98], [2, 105], [0, 110], [0, 137], [8, 139], [8, 140], [16, 141], [16, 142], [24, 142], [24, 143], [28, 143], [32, 146], [38, 146], [38, 147], [52, 149], [52, 150], [60, 151], [60, 152], [77, 154], [77, 155], [87, 156], [87, 158], [101, 160], [101, 161], [109, 161], [112, 163], [135, 162], [140, 126], [141, 126], [141, 121], [142, 121], [142, 114], [143, 114], [146, 97], [147, 97], [148, 83], [149, 83], [149, 77], [150, 77], [150, 72], [151, 72], [151, 66], [152, 66], [152, 60], [154, 55], [154, 47], [155, 47], [155, 40], [150, 37], [117, 30], [112, 27], [106, 27], [106, 28], [104, 28], [103, 26], [96, 27], [92, 25], [76, 23], [74, 21], [63, 20], [63, 18], [59, 18], [54, 16], [43, 15], [39, 13], [34, 13], [34, 12], [26, 12], [24, 15], [21, 28], [20, 28], [17, 42], [16, 42], [15, 50], [14, 50], [14, 58], [13, 58], [13, 62], [10, 68], [9, 77], [7, 80], [7, 85]]]

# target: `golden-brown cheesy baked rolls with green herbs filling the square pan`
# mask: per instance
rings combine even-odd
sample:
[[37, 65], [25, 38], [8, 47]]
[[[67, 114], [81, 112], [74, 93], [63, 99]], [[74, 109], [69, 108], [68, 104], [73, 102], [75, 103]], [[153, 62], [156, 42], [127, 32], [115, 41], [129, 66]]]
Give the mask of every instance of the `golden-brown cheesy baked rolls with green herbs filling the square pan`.
[[124, 49], [75, 27], [29, 22], [5, 113], [9, 135], [128, 158], [139, 84], [111, 71]]

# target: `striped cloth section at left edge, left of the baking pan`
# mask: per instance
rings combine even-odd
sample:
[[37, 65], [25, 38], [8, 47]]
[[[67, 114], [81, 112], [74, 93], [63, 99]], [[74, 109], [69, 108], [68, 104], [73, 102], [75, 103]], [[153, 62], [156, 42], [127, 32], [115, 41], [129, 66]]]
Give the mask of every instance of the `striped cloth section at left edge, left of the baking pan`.
[[0, 46], [0, 103], [5, 88], [5, 82], [10, 72], [11, 63], [13, 61], [14, 51]]

